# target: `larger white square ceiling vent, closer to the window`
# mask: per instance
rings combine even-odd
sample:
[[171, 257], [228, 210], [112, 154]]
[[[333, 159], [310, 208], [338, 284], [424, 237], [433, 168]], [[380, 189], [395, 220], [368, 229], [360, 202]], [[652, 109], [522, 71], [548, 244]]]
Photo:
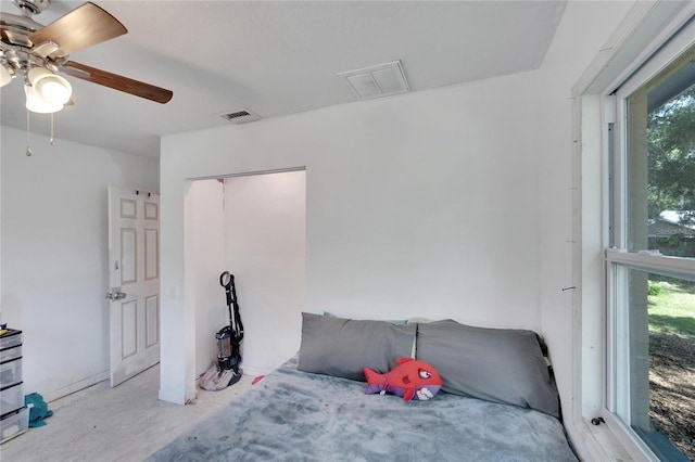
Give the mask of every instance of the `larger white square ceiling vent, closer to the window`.
[[345, 70], [339, 73], [338, 76], [345, 79], [345, 84], [357, 100], [371, 100], [410, 90], [405, 74], [403, 74], [401, 61]]

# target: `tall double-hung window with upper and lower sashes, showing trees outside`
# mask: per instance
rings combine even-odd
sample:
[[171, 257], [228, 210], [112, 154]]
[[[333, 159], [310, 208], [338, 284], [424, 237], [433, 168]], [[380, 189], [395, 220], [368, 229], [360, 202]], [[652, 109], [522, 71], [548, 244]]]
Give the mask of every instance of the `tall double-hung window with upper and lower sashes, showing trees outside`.
[[606, 407], [653, 454], [687, 461], [695, 460], [695, 47], [675, 59], [668, 52], [653, 59], [667, 63], [658, 72], [639, 72], [617, 92]]

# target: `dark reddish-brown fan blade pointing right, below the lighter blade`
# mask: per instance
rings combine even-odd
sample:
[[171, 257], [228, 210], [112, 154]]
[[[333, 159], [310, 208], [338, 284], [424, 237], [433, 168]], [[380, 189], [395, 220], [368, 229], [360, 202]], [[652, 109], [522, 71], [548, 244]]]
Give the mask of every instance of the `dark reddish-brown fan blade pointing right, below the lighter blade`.
[[62, 70], [73, 77], [91, 81], [92, 84], [103, 85], [104, 87], [135, 94], [146, 100], [156, 101], [162, 104], [167, 103], [174, 95], [172, 90], [108, 73], [106, 70], [101, 70], [74, 61], [68, 61], [63, 64]]

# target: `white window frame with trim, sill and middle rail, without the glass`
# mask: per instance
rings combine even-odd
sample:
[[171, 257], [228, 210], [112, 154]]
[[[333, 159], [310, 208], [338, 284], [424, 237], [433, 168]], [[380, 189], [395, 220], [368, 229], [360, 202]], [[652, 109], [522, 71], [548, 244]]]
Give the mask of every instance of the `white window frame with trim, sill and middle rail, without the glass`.
[[[614, 271], [628, 271], [627, 268], [649, 270], [655, 266], [659, 272], [683, 278], [692, 274], [691, 261], [673, 257], [658, 257], [628, 253], [620, 248], [608, 248], [610, 234], [609, 209], [614, 208], [614, 215], [623, 219], [624, 184], [620, 181], [624, 171], [622, 163], [623, 152], [621, 146], [614, 145], [614, 159], [618, 159], [612, 166], [615, 178], [618, 181], [617, 196], [611, 196], [608, 182], [609, 141], [622, 140], [622, 127], [614, 125], [612, 134], [609, 132], [609, 124], [618, 121], [624, 116], [622, 104], [616, 98], [616, 89], [627, 90], [629, 78], [642, 74], [649, 76], [661, 68], [656, 61], [649, 61], [657, 51], [678, 49], [672, 56], [685, 50], [688, 43], [682, 43], [685, 35], [677, 37], [678, 33], [687, 33], [695, 37], [695, 27], [692, 24], [695, 17], [695, 2], [669, 2], [649, 1], [636, 2], [630, 14], [622, 22], [618, 30], [610, 37], [594, 62], [572, 89], [574, 98], [576, 117], [574, 133], [574, 178], [580, 184], [580, 191], [576, 195], [576, 208], [580, 218], [576, 222], [576, 233], [580, 236], [580, 245], [574, 254], [576, 281], [579, 291], [574, 297], [574, 371], [578, 385], [573, 392], [573, 418], [566, 422], [576, 446], [580, 447], [582, 457], [595, 460], [653, 460], [657, 457], [640, 439], [632, 428], [624, 425], [610, 409], [629, 409], [629, 400], [620, 400], [611, 393], [620, 380], [624, 380], [629, 369], [620, 368], [616, 358], [609, 355], [616, 346], [618, 338], [624, 337], [626, 325], [616, 320], [616, 312], [607, 310], [609, 304], [624, 293], [622, 287], [615, 287], [609, 281], [620, 280], [609, 278]], [[683, 30], [681, 30], [683, 29]], [[649, 62], [647, 62], [649, 61]], [[649, 66], [655, 66], [649, 68]], [[650, 74], [649, 74], [650, 73]], [[644, 80], [643, 80], [644, 81]], [[635, 88], [639, 85], [635, 85]], [[617, 149], [616, 149], [617, 147]], [[612, 197], [612, 204], [609, 204]], [[615, 224], [616, 223], [611, 223]], [[614, 229], [614, 244], [622, 246], [624, 241], [624, 228]], [[604, 262], [603, 271], [597, 271], [599, 261]], [[685, 278], [690, 279], [690, 278]], [[592, 342], [592, 335], [586, 329], [582, 329], [583, 319], [602, 319], [604, 342], [596, 345]], [[626, 344], [619, 344], [624, 349]], [[604, 358], [603, 375], [596, 377], [592, 374], [592, 364], [583, 363], [582, 351], [585, 348], [598, 348]], [[624, 356], [626, 351], [619, 352]], [[617, 373], [616, 373], [617, 371]], [[622, 376], [622, 378], [620, 378]], [[596, 389], [603, 390], [595, 393]], [[605, 425], [592, 425], [590, 421], [602, 416]], [[579, 438], [579, 439], [578, 439]]]

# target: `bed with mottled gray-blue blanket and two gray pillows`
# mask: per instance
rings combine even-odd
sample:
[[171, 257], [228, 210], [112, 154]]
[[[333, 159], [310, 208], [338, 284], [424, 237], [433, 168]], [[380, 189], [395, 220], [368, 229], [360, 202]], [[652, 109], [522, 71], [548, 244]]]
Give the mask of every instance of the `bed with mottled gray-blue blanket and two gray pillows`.
[[[577, 461], [544, 350], [531, 331], [303, 313], [298, 355], [149, 460]], [[408, 356], [440, 393], [365, 394], [363, 365]]]

